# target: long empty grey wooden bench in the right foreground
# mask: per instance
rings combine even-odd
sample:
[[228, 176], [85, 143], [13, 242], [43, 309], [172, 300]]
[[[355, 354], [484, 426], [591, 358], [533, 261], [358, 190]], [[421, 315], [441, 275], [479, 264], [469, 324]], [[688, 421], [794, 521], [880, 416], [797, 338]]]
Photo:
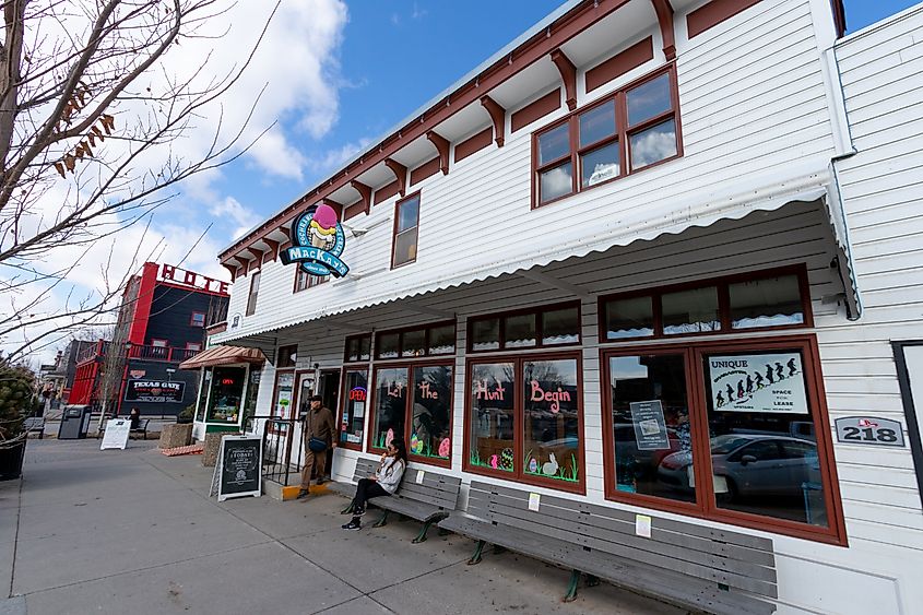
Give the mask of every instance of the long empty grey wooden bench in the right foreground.
[[[469, 564], [485, 543], [572, 570], [565, 601], [577, 596], [581, 572], [695, 611], [765, 615], [778, 598], [772, 541], [651, 517], [651, 537], [638, 535], [636, 515], [542, 494], [472, 482], [468, 511], [439, 528], [475, 539]], [[534, 508], [534, 507], [533, 507]], [[770, 599], [770, 600], [767, 600]]]

